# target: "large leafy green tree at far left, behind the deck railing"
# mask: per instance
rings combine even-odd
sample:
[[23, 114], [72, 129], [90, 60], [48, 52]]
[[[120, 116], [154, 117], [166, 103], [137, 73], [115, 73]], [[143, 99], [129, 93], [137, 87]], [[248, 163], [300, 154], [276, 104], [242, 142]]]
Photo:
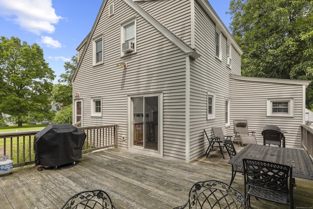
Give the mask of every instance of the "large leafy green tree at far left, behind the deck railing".
[[0, 38], [0, 112], [14, 116], [19, 126], [32, 117], [50, 119], [54, 71], [37, 44]]

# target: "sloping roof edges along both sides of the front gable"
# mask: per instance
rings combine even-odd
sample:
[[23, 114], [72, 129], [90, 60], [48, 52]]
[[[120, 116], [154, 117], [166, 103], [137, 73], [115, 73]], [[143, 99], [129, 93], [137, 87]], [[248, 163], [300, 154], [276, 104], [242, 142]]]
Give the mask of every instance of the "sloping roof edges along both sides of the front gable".
[[[153, 18], [151, 15], [149, 15], [146, 11], [144, 11], [138, 4], [136, 4], [133, 0], [124, 0], [125, 3], [127, 3], [131, 8], [134, 9], [134, 11], [136, 11], [139, 15], [141, 15], [144, 19], [146, 19], [146, 21], [148, 21], [151, 25], [153, 25], [157, 30], [159, 30], [166, 38], [168, 38], [173, 44], [175, 44], [176, 46], [178, 46], [184, 53], [186, 53], [186, 55], [197, 59], [198, 57], [200, 57], [200, 54], [197, 53], [193, 48], [191, 48], [190, 46], [188, 46], [184, 41], [182, 41], [181, 39], [179, 39], [179, 37], [177, 37], [174, 33], [172, 33], [169, 29], [167, 29], [163, 24], [159, 23], [155, 18]], [[95, 27], [101, 17], [102, 11], [105, 7], [107, 3], [107, 0], [103, 0], [101, 7], [99, 9], [98, 15], [96, 17], [95, 22], [93, 23], [93, 26], [91, 28], [90, 33], [88, 34], [88, 36], [84, 39], [84, 41], [79, 45], [79, 46], [83, 46], [85, 43], [89, 43], [90, 39], [92, 37], [92, 34], [95, 30]], [[81, 55], [81, 57], [84, 57], [86, 51], [88, 48], [88, 44], [85, 45], [83, 53]], [[77, 67], [74, 71], [73, 77], [71, 79], [71, 82], [73, 82], [76, 74], [77, 74], [77, 70], [79, 69], [80, 65], [81, 65], [82, 59], [79, 59]]]

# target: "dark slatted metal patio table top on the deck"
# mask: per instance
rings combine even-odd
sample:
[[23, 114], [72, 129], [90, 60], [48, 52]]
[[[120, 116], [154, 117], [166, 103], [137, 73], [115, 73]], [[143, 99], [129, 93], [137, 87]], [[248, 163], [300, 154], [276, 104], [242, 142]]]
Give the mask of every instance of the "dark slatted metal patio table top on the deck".
[[243, 159], [292, 165], [292, 176], [313, 180], [313, 162], [306, 150], [248, 144], [228, 164], [243, 166]]

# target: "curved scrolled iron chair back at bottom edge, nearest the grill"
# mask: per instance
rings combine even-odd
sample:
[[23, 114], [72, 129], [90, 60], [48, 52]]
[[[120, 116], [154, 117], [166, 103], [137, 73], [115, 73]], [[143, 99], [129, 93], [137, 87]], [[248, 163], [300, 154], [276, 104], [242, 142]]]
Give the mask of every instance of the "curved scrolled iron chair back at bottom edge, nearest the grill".
[[61, 209], [116, 209], [110, 196], [103, 190], [82, 191], [72, 197]]

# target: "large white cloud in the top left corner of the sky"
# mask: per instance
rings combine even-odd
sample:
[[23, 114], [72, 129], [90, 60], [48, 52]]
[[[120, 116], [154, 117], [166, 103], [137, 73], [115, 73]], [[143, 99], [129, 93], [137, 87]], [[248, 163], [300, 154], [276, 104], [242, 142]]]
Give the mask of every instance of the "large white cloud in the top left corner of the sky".
[[0, 0], [0, 16], [40, 35], [53, 33], [61, 16], [55, 14], [52, 0]]

